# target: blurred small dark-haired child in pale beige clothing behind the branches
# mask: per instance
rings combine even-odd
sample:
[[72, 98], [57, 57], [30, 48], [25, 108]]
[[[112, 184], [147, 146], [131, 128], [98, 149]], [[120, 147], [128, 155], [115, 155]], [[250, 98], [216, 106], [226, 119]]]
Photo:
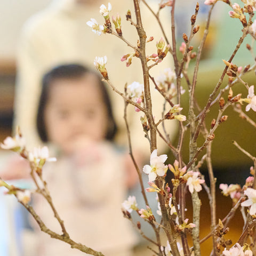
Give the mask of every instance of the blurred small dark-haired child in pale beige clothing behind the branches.
[[[116, 124], [99, 76], [81, 65], [49, 71], [37, 129], [57, 157], [46, 164], [43, 178], [70, 238], [106, 256], [132, 255], [135, 237], [121, 204], [137, 177], [131, 168], [125, 172], [124, 154], [112, 142]], [[50, 206], [36, 199], [34, 207], [46, 226], [61, 234]], [[85, 255], [41, 231], [38, 236], [38, 256]]]

